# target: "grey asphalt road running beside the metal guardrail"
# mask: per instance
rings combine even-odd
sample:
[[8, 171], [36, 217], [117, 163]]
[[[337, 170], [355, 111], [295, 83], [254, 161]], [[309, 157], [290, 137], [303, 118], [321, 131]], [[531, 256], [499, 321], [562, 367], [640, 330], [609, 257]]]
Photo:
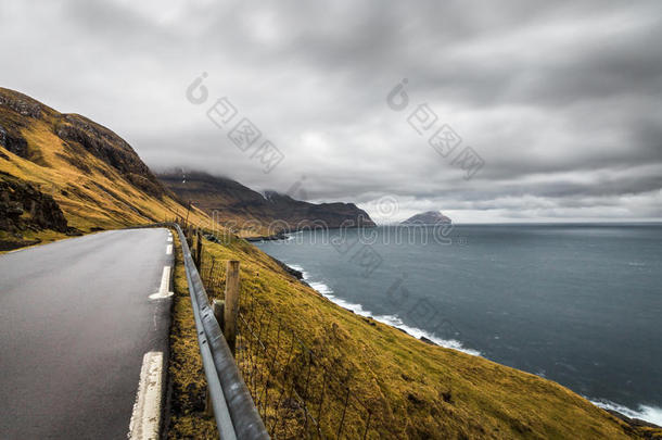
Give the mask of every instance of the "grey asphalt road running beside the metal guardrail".
[[167, 362], [170, 299], [149, 297], [168, 237], [113, 230], [0, 255], [0, 439], [127, 438], [143, 356]]

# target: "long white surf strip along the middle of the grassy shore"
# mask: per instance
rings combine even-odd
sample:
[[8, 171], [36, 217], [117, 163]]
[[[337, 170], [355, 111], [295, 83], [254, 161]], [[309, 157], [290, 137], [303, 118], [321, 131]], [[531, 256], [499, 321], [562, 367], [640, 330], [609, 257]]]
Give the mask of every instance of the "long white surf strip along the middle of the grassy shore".
[[305, 272], [301, 265], [288, 263], [288, 266], [292, 267], [295, 271], [301, 272], [303, 275], [304, 281], [306, 281], [313, 289], [315, 289], [319, 293], [321, 293], [322, 297], [327, 298], [329, 301], [335, 303], [336, 305], [340, 305], [343, 309], [351, 310], [352, 312], [356, 313], [357, 315], [365, 316], [365, 317], [371, 317], [372, 319], [379, 320], [382, 324], [386, 324], [391, 327], [397, 327], [402, 330], [407, 331], [409, 335], [411, 335], [418, 339], [421, 339], [421, 338], [430, 339], [432, 342], [436, 343], [437, 345], [445, 347], [447, 349], [454, 349], [457, 351], [461, 351], [463, 353], [471, 354], [473, 356], [481, 355], [480, 351], [464, 348], [462, 345], [462, 343], [458, 340], [442, 339], [442, 338], [436, 337], [434, 334], [430, 334], [418, 327], [408, 326], [397, 315], [374, 315], [372, 312], [365, 310], [361, 304], [348, 302], [348, 301], [343, 300], [342, 298], [334, 296], [333, 290], [328, 285], [326, 285], [321, 281], [309, 280], [309, 276], [308, 276], [309, 274], [307, 272]]

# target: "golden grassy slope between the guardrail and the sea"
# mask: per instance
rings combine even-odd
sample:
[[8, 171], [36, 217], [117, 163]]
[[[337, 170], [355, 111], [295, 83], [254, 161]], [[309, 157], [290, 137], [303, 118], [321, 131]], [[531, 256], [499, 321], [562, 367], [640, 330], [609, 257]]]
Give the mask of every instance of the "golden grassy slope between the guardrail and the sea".
[[[241, 262], [242, 313], [263, 316], [263, 325], [257, 326], [263, 340], [277, 340], [281, 327], [273, 324], [277, 318], [315, 353], [316, 364], [334, 365], [335, 372], [348, 378], [353, 394], [373, 411], [369, 438], [662, 438], [662, 430], [634, 429], [556, 382], [430, 345], [339, 307], [243, 240], [220, 244], [205, 240], [204, 244], [203, 272], [211, 269], [212, 259], [217, 267], [225, 260]], [[222, 275], [219, 281], [220, 286], [209, 286], [212, 294], [220, 296]], [[267, 316], [276, 317], [270, 325], [266, 325]], [[279, 350], [288, 348], [282, 343]], [[285, 353], [279, 353], [276, 359], [284, 357]], [[272, 362], [256, 361], [245, 353], [244, 357], [240, 353], [240, 360], [246, 377], [252, 366]], [[319, 391], [317, 380], [309, 380], [308, 393], [315, 387]], [[279, 387], [269, 387], [277, 394]], [[326, 392], [329, 414], [322, 423], [331, 429], [342, 416], [345, 391], [331, 387]], [[269, 425], [278, 408], [276, 399], [267, 404]], [[360, 437], [366, 413], [348, 411], [343, 432], [348, 438]], [[292, 437], [292, 431], [280, 433]], [[333, 431], [326, 433], [334, 437]]]

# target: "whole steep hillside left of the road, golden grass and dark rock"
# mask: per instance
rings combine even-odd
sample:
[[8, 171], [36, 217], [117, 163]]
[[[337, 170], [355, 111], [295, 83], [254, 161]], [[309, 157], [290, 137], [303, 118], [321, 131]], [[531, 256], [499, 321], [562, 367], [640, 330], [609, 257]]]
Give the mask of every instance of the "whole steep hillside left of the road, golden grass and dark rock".
[[119, 136], [0, 88], [0, 250], [184, 212]]

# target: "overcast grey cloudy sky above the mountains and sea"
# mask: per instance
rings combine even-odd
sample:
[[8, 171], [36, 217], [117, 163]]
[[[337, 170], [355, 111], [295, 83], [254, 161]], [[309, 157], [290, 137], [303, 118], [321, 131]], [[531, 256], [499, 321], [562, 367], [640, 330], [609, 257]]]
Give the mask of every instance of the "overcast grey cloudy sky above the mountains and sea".
[[3, 1], [0, 23], [2, 86], [155, 169], [382, 222], [662, 218], [659, 1]]

